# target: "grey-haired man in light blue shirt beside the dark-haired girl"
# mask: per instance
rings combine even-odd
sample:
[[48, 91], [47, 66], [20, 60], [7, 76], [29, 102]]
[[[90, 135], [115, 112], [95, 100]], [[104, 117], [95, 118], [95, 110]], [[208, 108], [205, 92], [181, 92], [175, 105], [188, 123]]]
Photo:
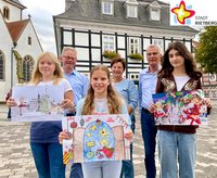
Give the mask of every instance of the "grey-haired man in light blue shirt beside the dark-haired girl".
[[155, 166], [155, 137], [156, 127], [154, 116], [149, 112], [152, 103], [152, 94], [155, 93], [157, 73], [161, 68], [159, 61], [162, 54], [157, 46], [149, 46], [146, 48], [146, 60], [149, 67], [140, 72], [139, 75], [139, 113], [141, 118], [142, 138], [144, 143], [144, 166], [146, 169], [146, 178], [156, 177]]

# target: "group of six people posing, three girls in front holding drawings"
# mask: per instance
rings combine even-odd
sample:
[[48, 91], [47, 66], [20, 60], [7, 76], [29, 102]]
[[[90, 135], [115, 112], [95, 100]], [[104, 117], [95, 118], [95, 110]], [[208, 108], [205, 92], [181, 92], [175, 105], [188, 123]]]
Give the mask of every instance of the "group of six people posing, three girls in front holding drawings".
[[[146, 178], [156, 177], [156, 135], [161, 177], [176, 178], [179, 175], [180, 178], [193, 178], [197, 126], [156, 127], [152, 94], [201, 89], [202, 73], [196, 69], [186, 46], [179, 41], [171, 42], [163, 56], [157, 46], [150, 44], [146, 48], [146, 60], [149, 67], [140, 72], [137, 89], [132, 80], [124, 78], [126, 63], [120, 56], [111, 62], [112, 76], [108, 67], [97, 65], [91, 69], [89, 80], [75, 71], [76, 50], [65, 47], [60, 59], [51, 52], [39, 55], [29, 85], [63, 86], [62, 107], [66, 115], [129, 114], [131, 129], [124, 136], [128, 140], [133, 137], [135, 110], [139, 105]], [[10, 97], [7, 104], [13, 106], [16, 102]], [[208, 109], [212, 107], [209, 100], [206, 100], [206, 104]], [[63, 139], [69, 139], [69, 136], [62, 130], [61, 122], [31, 123], [30, 148], [39, 178], [65, 177], [61, 145]], [[72, 164], [69, 177], [133, 178], [132, 143], [129, 161], [75, 163]]]

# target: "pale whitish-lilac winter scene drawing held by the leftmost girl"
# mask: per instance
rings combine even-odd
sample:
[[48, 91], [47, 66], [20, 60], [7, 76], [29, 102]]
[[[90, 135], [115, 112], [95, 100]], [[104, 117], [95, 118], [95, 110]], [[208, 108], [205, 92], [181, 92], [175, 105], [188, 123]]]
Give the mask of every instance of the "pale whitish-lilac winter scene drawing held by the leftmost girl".
[[62, 86], [16, 86], [12, 98], [17, 103], [11, 107], [12, 122], [62, 120], [64, 116]]

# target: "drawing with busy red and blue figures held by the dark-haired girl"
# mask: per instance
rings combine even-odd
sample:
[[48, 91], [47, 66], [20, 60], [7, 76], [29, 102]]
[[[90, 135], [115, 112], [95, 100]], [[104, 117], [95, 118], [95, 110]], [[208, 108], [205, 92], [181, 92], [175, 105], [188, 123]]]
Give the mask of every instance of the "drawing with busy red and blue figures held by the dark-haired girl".
[[153, 94], [156, 125], [207, 125], [202, 90]]

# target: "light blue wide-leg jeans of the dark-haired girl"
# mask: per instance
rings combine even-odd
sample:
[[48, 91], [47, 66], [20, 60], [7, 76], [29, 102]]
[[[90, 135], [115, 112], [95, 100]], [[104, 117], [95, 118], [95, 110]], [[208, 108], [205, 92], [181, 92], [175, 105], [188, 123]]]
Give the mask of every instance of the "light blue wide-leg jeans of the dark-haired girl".
[[[195, 134], [158, 130], [157, 141], [161, 163], [161, 178], [195, 178]], [[179, 164], [179, 176], [177, 162]]]

